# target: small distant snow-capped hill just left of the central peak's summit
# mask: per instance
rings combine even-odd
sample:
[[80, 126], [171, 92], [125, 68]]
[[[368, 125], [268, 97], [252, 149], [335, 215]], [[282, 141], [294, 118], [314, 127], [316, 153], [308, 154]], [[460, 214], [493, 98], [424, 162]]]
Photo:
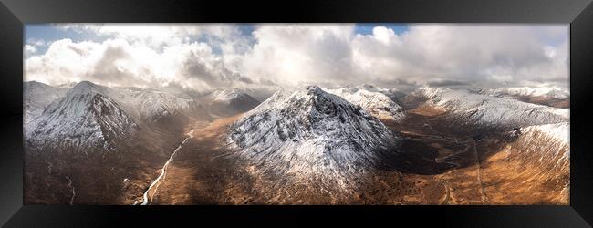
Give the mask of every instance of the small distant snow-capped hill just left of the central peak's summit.
[[260, 102], [236, 88], [215, 90], [206, 97], [214, 115], [232, 116], [254, 109]]

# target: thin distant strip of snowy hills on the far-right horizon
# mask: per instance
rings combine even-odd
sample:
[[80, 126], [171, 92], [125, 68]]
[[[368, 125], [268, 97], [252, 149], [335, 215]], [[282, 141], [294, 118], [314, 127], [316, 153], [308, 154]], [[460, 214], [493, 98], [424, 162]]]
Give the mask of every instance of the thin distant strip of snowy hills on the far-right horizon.
[[482, 89], [478, 91], [484, 95], [490, 96], [525, 96], [525, 97], [545, 97], [545, 98], [557, 98], [566, 99], [570, 97], [570, 92], [567, 89], [559, 87], [515, 87], [515, 88], [492, 88]]

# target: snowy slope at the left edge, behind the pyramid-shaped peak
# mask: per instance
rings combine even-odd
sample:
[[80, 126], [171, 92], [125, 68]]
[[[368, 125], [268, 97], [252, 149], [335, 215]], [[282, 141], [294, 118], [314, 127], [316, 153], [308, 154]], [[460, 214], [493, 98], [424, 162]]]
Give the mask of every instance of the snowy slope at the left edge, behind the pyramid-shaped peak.
[[52, 101], [64, 97], [67, 91], [41, 82], [23, 82], [23, 122], [27, 124], [39, 117]]

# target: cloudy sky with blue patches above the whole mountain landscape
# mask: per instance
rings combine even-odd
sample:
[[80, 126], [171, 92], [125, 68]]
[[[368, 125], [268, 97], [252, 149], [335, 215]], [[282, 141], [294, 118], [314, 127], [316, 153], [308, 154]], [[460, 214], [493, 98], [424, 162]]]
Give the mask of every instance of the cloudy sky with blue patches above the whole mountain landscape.
[[568, 87], [568, 26], [26, 25], [25, 81], [139, 88]]

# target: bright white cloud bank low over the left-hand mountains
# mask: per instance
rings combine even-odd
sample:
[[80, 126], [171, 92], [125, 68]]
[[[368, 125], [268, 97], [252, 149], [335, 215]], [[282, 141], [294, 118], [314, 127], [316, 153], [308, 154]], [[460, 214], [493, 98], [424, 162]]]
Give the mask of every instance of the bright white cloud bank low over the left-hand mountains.
[[100, 43], [62, 39], [45, 54], [28, 57], [25, 66], [26, 80], [52, 85], [89, 80], [121, 87], [210, 89], [250, 82], [226, 67], [209, 45], [199, 42], [157, 50], [121, 38]]

